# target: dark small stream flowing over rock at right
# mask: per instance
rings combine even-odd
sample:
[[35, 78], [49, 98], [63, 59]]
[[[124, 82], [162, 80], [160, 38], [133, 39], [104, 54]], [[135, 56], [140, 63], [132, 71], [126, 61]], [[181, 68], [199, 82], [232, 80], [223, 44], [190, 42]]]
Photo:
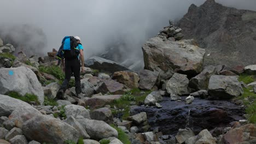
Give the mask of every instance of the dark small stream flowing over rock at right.
[[224, 100], [195, 98], [188, 105], [184, 101], [171, 101], [164, 97], [160, 104], [161, 109], [150, 106], [132, 107], [131, 115], [147, 112], [151, 129], [158, 127], [163, 134], [177, 134], [180, 128], [191, 128], [197, 134], [203, 129], [227, 127], [230, 122], [244, 119], [242, 115], [245, 113], [237, 105]]

